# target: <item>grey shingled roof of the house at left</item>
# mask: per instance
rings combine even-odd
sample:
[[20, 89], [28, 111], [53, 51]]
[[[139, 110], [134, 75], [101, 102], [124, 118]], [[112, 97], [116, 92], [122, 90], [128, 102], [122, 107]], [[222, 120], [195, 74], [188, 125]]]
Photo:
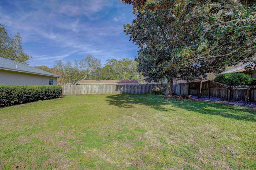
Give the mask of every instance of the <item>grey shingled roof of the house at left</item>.
[[0, 57], [0, 70], [10, 70], [16, 72], [25, 72], [30, 74], [39, 74], [43, 76], [61, 77], [38, 68], [28, 66], [27, 64], [18, 63], [9, 59]]

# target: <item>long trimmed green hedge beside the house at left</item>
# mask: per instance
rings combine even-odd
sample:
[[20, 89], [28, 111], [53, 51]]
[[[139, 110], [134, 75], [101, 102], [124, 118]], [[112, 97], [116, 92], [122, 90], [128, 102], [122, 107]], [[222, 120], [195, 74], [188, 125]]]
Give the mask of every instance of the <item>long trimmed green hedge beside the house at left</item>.
[[0, 107], [59, 98], [62, 87], [50, 85], [0, 85]]

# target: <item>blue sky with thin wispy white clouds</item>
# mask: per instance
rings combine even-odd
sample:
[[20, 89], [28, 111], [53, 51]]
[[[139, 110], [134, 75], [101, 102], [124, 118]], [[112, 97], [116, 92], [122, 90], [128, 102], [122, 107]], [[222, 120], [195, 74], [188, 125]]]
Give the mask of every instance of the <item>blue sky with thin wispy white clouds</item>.
[[123, 24], [131, 23], [132, 6], [119, 0], [0, 0], [0, 23], [20, 33], [30, 66], [54, 66], [92, 55], [101, 59], [134, 59], [138, 47]]

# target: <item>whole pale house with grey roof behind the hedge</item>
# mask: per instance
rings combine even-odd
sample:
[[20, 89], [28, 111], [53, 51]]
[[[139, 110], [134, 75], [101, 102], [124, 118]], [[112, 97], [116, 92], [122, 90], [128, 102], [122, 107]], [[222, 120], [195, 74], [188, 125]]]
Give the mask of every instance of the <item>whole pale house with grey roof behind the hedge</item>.
[[57, 85], [56, 74], [0, 57], [0, 84]]

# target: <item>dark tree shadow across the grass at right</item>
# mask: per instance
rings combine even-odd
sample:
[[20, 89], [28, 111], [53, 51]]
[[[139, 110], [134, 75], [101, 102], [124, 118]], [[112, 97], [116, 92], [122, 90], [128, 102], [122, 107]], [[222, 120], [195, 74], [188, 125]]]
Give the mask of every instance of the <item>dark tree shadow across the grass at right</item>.
[[182, 101], [177, 99], [166, 99], [161, 96], [150, 95], [113, 95], [107, 96], [106, 100], [110, 105], [132, 108], [134, 104], [150, 106], [160, 111], [173, 111], [173, 109], [166, 108], [166, 106], [173, 106], [188, 111], [194, 111], [208, 115], [220, 115], [222, 117], [256, 121], [256, 111], [246, 107], [236, 107], [226, 104], [213, 103], [213, 102], [195, 102], [195, 101]]

